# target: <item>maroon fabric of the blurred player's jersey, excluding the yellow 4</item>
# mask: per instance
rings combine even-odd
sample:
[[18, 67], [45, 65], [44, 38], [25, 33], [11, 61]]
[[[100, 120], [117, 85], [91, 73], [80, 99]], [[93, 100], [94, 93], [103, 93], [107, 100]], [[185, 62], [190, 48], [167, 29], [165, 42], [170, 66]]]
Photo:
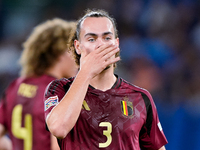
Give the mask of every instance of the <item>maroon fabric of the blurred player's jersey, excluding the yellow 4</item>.
[[[13, 109], [19, 104], [23, 108], [22, 114], [19, 115], [22, 116], [21, 127], [25, 126], [27, 114], [30, 114], [32, 118], [31, 150], [50, 150], [50, 133], [46, 130], [43, 98], [46, 86], [54, 79], [54, 77], [47, 75], [35, 78], [18, 78], [10, 84], [4, 93], [0, 104], [0, 123], [8, 129], [14, 150], [23, 150], [25, 144], [23, 139], [16, 138], [11, 131]], [[29, 90], [23, 89], [22, 86], [19, 92], [19, 87], [22, 84], [27, 85], [24, 87], [29, 88]], [[36, 93], [34, 94], [35, 89]]]

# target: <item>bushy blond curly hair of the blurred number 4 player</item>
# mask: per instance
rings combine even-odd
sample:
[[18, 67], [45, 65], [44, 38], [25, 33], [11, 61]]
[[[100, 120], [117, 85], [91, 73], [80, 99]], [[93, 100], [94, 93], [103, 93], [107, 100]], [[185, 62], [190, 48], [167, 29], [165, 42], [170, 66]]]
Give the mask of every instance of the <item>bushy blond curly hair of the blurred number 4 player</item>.
[[69, 50], [69, 39], [74, 35], [75, 21], [59, 18], [48, 20], [34, 28], [32, 34], [23, 43], [20, 58], [22, 76], [39, 76], [45, 73]]

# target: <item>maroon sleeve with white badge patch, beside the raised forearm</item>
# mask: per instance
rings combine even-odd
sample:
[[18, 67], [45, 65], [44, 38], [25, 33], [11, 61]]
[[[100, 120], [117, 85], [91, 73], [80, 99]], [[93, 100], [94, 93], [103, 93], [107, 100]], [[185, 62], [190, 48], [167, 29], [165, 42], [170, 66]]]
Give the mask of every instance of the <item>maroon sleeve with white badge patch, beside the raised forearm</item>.
[[44, 95], [44, 112], [45, 118], [51, 110], [62, 100], [69, 89], [69, 80], [54, 80], [46, 87]]

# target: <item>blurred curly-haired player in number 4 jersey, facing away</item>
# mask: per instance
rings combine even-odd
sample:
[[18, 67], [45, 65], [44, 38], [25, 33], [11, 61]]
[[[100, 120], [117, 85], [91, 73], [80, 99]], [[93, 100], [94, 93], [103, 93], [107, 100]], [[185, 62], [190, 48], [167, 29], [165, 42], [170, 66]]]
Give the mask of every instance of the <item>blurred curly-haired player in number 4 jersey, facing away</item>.
[[43, 98], [52, 80], [77, 73], [67, 44], [75, 28], [74, 21], [48, 20], [36, 26], [23, 44], [21, 76], [9, 85], [0, 103], [0, 137], [8, 131], [13, 150], [59, 149], [46, 128]]

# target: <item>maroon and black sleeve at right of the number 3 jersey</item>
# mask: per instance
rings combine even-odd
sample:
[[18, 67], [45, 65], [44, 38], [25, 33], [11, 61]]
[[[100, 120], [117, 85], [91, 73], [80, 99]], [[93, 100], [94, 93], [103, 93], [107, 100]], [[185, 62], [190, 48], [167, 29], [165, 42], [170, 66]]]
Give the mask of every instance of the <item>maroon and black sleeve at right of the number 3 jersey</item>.
[[147, 118], [140, 131], [140, 147], [141, 150], [158, 150], [168, 142], [151, 95], [146, 92], [142, 93], [142, 97], [146, 105]]

